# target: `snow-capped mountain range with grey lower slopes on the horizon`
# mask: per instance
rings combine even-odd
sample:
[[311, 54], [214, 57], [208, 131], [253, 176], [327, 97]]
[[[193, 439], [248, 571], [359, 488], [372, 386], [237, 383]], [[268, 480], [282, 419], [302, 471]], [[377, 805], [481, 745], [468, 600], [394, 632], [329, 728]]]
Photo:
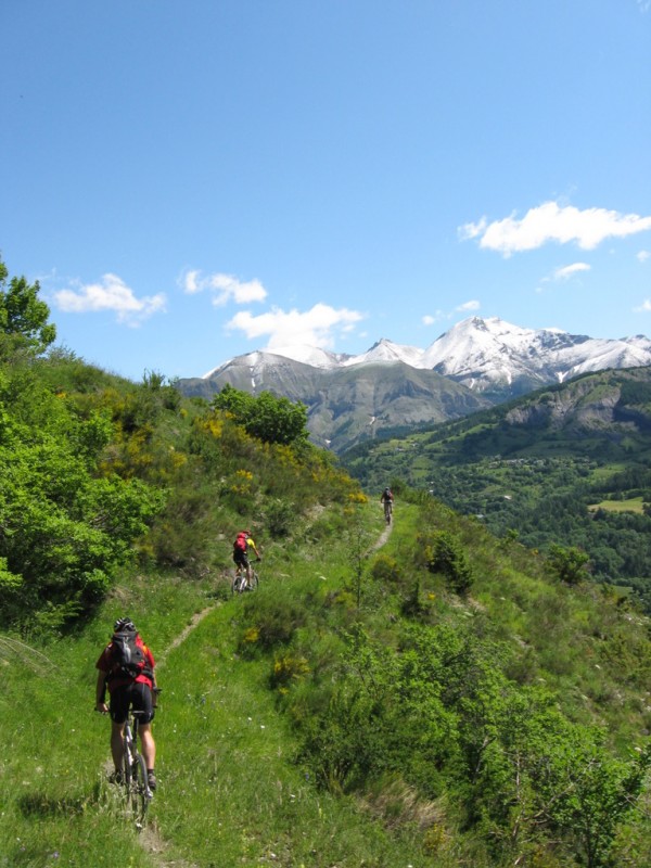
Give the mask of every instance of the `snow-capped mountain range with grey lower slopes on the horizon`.
[[651, 366], [643, 335], [593, 339], [472, 317], [426, 349], [382, 339], [358, 356], [309, 346], [257, 350], [179, 388], [209, 398], [230, 383], [301, 400], [315, 442], [342, 451], [382, 430], [435, 424], [577, 374], [643, 366]]

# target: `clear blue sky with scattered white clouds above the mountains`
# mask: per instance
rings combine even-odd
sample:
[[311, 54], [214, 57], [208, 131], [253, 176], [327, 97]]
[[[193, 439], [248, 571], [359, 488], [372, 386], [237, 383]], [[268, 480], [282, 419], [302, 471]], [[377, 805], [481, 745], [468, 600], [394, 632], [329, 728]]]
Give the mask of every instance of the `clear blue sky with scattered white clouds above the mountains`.
[[140, 380], [651, 335], [651, 0], [1, 0], [0, 256]]

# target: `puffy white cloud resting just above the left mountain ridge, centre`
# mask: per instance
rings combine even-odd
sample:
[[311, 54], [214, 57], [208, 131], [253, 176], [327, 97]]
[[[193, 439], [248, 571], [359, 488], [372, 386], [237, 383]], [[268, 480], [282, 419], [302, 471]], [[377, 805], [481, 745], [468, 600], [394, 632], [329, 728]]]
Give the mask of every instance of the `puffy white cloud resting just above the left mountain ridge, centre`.
[[317, 304], [310, 310], [285, 311], [273, 308], [267, 314], [254, 317], [243, 310], [227, 323], [231, 330], [243, 331], [248, 339], [269, 335], [267, 349], [286, 346], [307, 345], [323, 349], [332, 348], [336, 332], [349, 332], [363, 315], [357, 310]]

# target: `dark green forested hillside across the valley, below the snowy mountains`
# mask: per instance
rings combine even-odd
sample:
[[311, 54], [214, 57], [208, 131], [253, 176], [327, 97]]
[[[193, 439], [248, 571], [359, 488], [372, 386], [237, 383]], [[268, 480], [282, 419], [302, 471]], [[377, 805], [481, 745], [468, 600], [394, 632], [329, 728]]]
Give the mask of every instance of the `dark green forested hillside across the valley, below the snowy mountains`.
[[602, 371], [343, 457], [365, 488], [394, 476], [496, 535], [580, 549], [651, 611], [651, 370]]

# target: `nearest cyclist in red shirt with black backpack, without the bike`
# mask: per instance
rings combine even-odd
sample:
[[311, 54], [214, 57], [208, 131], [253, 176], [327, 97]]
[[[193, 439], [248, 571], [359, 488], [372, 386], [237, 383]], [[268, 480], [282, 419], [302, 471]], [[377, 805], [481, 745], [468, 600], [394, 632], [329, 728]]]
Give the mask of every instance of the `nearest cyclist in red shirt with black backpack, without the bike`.
[[[143, 664], [140, 672], [133, 674], [125, 672], [124, 667], [117, 662], [117, 644], [122, 639], [133, 639], [138, 642], [142, 651]], [[95, 690], [95, 710], [102, 714], [111, 715], [111, 754], [115, 773], [112, 780], [116, 783], [122, 782], [123, 766], [123, 738], [125, 723], [129, 713], [129, 706], [135, 711], [144, 712], [140, 716], [138, 731], [142, 756], [146, 764], [146, 776], [150, 790], [156, 789], [156, 776], [154, 773], [156, 763], [156, 743], [152, 735], [151, 723], [154, 719], [154, 689], [156, 687], [156, 676], [154, 656], [150, 649], [142, 642], [138, 635], [133, 622], [128, 617], [120, 617], [113, 627], [113, 638], [104, 648], [95, 668], [98, 669], [98, 682]], [[106, 688], [111, 697], [110, 705], [106, 705]]]

